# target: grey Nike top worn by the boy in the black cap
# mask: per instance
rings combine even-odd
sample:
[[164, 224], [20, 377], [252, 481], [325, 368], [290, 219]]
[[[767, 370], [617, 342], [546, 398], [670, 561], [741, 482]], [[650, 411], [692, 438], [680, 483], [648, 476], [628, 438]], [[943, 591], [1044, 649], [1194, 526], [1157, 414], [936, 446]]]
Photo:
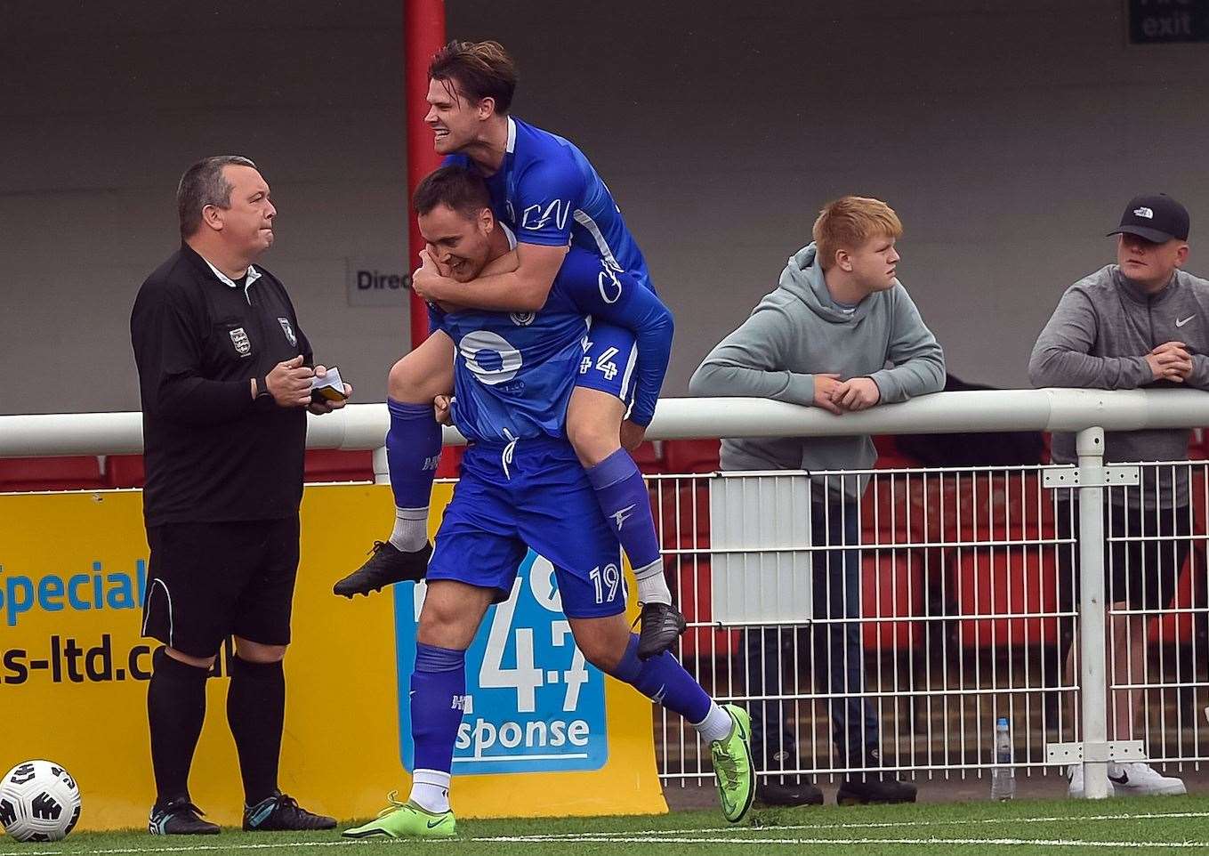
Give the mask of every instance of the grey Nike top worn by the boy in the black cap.
[[[1101, 267], [1066, 289], [1029, 358], [1035, 387], [1135, 389], [1173, 386], [1153, 380], [1146, 354], [1164, 342], [1184, 342], [1192, 354], [1192, 376], [1182, 384], [1209, 388], [1209, 282], [1176, 271], [1156, 294], [1146, 294], [1116, 265]], [[1188, 429], [1110, 432], [1105, 461], [1182, 461], [1188, 453]], [[1075, 435], [1054, 434], [1055, 463], [1075, 463]], [[1172, 469], [1144, 470], [1141, 497], [1136, 488], [1113, 491], [1113, 501], [1130, 508], [1170, 508], [1188, 502], [1187, 472], [1178, 470], [1173, 494]]]

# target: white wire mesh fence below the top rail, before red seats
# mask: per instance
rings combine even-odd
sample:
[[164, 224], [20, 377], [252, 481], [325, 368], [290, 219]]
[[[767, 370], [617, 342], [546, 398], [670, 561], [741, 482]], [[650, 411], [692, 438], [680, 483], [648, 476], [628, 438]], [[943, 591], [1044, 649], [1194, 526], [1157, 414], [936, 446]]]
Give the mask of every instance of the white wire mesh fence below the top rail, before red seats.
[[[1116, 631], [1107, 640], [1117, 640], [1106, 648], [1107, 735], [1144, 740], [1172, 771], [1209, 759], [1199, 713], [1209, 702], [1205, 469], [1143, 464], [1145, 487], [1105, 488], [1105, 573], [1121, 579], [1107, 609]], [[1000, 716], [1012, 724], [1019, 775], [1063, 774], [1046, 747], [1081, 739], [1078, 501], [1070, 487], [1046, 488], [1046, 473], [1063, 468], [814, 473], [814, 614], [763, 626], [712, 612], [725, 557], [711, 542], [717, 476], [649, 476], [669, 578], [689, 621], [677, 653], [719, 702], [762, 721], [757, 763], [776, 775], [870, 769], [837, 745], [837, 712], [849, 719], [839, 742], [875, 744], [881, 767], [906, 777], [982, 776], [994, 765]], [[868, 487], [845, 504], [837, 497], [854, 475]], [[775, 480], [752, 486], [775, 494]], [[845, 540], [854, 530], [858, 544]], [[858, 573], [844, 572], [845, 554]], [[851, 665], [863, 670], [860, 704], [851, 683], [828, 679]], [[860, 717], [862, 706], [872, 716]], [[708, 748], [690, 728], [661, 710], [655, 727], [666, 783], [712, 777]]]

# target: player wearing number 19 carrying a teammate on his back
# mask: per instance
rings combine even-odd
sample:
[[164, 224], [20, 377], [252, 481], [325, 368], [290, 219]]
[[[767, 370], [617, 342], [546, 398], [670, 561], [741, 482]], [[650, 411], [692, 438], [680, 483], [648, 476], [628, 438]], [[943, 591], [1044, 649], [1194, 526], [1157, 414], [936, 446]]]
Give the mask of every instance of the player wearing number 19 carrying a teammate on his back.
[[[482, 179], [442, 167], [416, 189], [413, 204], [427, 250], [451, 276], [517, 264], [488, 207]], [[433, 264], [429, 258], [426, 264]], [[348, 838], [445, 838], [455, 834], [449, 790], [465, 695], [465, 650], [492, 603], [505, 600], [532, 548], [555, 568], [563, 612], [585, 659], [664, 707], [684, 716], [712, 751], [722, 808], [737, 822], [754, 792], [746, 711], [718, 706], [667, 652], [637, 655], [625, 620], [618, 542], [588, 474], [566, 438], [566, 411], [592, 323], [634, 323], [637, 371], [666, 369], [671, 314], [648, 289], [600, 256], [573, 248], [549, 299], [536, 313], [449, 306], [432, 313], [455, 360], [450, 416], [470, 440], [462, 476], [445, 510], [428, 563], [411, 677], [415, 770], [406, 803], [345, 832]], [[659, 342], [664, 346], [660, 347]]]

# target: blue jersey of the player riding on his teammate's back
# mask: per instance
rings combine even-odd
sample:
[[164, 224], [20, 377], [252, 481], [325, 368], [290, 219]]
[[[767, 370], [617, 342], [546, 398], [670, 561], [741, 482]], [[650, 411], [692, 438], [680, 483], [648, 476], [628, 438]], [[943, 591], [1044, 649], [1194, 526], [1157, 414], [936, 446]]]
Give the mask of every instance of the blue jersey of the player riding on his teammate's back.
[[[465, 155], [445, 164], [474, 167]], [[504, 161], [487, 178], [491, 208], [520, 243], [578, 247], [652, 288], [647, 260], [604, 181], [567, 139], [508, 117]]]

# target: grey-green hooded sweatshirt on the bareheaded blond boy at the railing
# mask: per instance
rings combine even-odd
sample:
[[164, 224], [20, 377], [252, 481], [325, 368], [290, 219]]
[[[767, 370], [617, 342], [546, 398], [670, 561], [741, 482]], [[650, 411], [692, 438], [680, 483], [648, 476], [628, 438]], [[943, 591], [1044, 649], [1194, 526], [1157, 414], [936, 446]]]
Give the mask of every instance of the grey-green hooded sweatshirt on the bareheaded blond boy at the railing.
[[[815, 372], [870, 377], [881, 393], [879, 404], [891, 404], [943, 389], [944, 354], [901, 284], [870, 294], [851, 313], [837, 306], [811, 243], [789, 259], [777, 289], [710, 352], [688, 388], [694, 395], [751, 395], [809, 406]], [[722, 441], [725, 470], [866, 469], [875, 459], [868, 435]], [[844, 493], [858, 496], [866, 481], [844, 479]]]

